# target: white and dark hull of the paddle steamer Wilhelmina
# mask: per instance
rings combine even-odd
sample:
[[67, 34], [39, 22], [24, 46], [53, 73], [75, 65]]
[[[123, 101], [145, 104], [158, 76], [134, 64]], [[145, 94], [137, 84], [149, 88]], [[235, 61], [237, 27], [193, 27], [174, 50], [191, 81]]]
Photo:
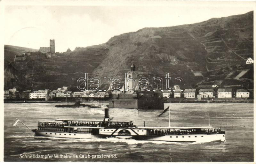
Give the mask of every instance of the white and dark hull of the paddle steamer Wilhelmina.
[[[106, 130], [106, 132], [100, 132]], [[110, 132], [108, 132], [109, 130]], [[113, 130], [113, 131], [111, 131]], [[35, 131], [35, 136], [57, 137], [57, 138], [130, 138], [136, 140], [149, 141], [169, 141], [169, 142], [211, 142], [211, 141], [225, 141], [225, 133], [214, 134], [186, 134], [186, 135], [147, 135], [143, 131], [147, 129], [127, 129], [127, 128], [111, 128], [99, 129], [99, 134], [89, 133], [70, 133], [70, 132], [49, 132], [49, 131]], [[116, 131], [116, 132], [115, 132]], [[136, 131], [138, 133], [136, 133]], [[112, 133], [111, 133], [112, 132]]]

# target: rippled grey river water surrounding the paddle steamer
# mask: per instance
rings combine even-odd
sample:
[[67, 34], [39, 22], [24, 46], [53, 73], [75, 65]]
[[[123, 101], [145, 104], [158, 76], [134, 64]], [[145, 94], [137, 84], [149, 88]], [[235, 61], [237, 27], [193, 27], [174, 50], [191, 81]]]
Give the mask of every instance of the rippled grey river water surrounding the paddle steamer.
[[[46, 138], [34, 137], [21, 123], [16, 127], [12, 126], [15, 118], [19, 118], [30, 128], [36, 128], [37, 122], [41, 120], [102, 119], [104, 116], [104, 107], [56, 108], [54, 105], [56, 104], [4, 104], [4, 161], [253, 161], [253, 104], [164, 104], [165, 108], [171, 108], [171, 126], [208, 126], [209, 113], [211, 126], [221, 126], [224, 129], [225, 125], [226, 142], [177, 143], [117, 138]], [[168, 126], [169, 112], [157, 118], [160, 113], [162, 110], [109, 109], [109, 115], [114, 117], [114, 120], [134, 120], [137, 126], [144, 126], [144, 121], [146, 126]], [[42, 155], [47, 154], [53, 158], [36, 158], [36, 155], [44, 157]], [[56, 154], [66, 156], [54, 157]], [[34, 158], [21, 158], [25, 155], [34, 155]]]

